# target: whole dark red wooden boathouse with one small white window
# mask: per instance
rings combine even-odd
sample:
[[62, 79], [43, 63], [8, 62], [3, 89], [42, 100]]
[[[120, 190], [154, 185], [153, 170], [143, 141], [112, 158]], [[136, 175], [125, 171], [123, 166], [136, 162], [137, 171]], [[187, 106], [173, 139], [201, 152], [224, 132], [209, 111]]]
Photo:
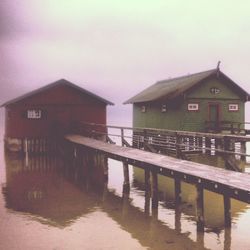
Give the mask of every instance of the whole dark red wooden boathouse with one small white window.
[[106, 124], [113, 103], [64, 79], [29, 92], [5, 107], [5, 141], [16, 151], [27, 139], [51, 138], [69, 132], [77, 122]]

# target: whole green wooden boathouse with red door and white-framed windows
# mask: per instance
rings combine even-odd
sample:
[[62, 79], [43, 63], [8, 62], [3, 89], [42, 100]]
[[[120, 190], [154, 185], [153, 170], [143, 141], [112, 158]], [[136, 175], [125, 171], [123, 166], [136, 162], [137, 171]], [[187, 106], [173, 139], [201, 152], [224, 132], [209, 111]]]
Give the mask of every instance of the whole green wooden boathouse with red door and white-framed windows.
[[133, 126], [223, 132], [244, 129], [250, 95], [216, 69], [156, 82], [124, 104], [133, 104]]

